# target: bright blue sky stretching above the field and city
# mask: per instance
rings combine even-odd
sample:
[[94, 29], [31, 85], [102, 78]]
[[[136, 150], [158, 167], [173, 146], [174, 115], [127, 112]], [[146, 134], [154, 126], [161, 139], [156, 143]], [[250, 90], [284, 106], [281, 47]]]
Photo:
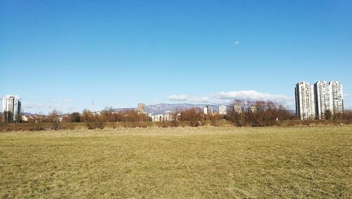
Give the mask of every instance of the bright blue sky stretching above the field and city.
[[0, 97], [47, 114], [272, 100], [337, 80], [352, 109], [352, 1], [0, 1]]

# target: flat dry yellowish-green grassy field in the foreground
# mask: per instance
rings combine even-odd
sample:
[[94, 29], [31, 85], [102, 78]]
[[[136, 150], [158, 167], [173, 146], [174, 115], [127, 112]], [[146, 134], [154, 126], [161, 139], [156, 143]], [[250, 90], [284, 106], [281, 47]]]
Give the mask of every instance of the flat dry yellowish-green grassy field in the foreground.
[[352, 126], [0, 133], [2, 198], [351, 198]]

